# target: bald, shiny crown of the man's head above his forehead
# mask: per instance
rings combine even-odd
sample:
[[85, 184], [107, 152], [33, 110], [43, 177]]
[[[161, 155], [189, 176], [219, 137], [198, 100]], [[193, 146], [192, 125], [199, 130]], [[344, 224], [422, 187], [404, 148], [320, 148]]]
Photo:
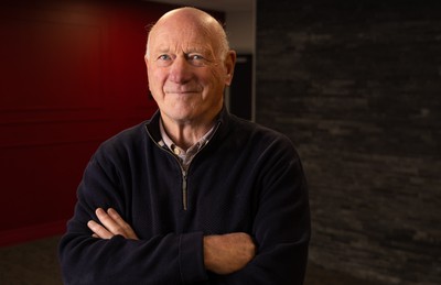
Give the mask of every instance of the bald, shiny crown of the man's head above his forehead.
[[196, 8], [179, 8], [163, 14], [151, 28], [147, 42], [146, 56], [149, 57], [150, 43], [157, 36], [166, 36], [169, 31], [192, 31], [201, 41], [211, 42], [216, 47], [218, 59], [224, 59], [229, 51], [228, 40], [222, 24], [211, 14]]

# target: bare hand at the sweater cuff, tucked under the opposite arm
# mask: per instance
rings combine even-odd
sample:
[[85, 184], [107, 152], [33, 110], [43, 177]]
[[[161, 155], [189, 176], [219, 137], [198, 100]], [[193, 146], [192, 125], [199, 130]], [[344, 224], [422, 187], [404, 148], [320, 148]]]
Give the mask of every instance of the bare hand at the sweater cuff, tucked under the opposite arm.
[[211, 272], [234, 273], [245, 267], [255, 256], [256, 245], [245, 232], [204, 237], [204, 263]]

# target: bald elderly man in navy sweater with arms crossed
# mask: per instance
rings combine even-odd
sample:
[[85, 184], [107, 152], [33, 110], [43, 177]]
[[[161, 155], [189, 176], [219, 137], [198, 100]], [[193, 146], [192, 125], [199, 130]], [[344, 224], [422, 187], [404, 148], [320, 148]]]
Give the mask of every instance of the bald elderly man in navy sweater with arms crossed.
[[224, 107], [222, 25], [181, 8], [149, 33], [159, 111], [103, 143], [60, 243], [65, 284], [303, 283], [308, 191], [284, 135]]

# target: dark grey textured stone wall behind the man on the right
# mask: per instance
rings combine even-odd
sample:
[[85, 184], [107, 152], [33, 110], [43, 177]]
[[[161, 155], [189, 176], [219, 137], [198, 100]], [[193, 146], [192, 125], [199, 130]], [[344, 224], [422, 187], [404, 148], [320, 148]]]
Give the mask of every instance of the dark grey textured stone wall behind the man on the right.
[[257, 0], [256, 41], [256, 121], [302, 157], [310, 261], [441, 284], [441, 1]]

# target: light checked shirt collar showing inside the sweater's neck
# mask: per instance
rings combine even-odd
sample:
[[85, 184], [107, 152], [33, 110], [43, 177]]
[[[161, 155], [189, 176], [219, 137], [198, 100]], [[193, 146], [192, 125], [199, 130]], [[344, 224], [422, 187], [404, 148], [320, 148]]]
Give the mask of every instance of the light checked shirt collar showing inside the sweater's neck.
[[212, 138], [212, 135], [214, 133], [215, 125], [213, 125], [212, 129], [209, 129], [209, 131], [206, 132], [198, 142], [196, 142], [195, 144], [190, 146], [189, 150], [186, 150], [186, 151], [179, 147], [172, 141], [172, 139], [170, 139], [170, 136], [166, 134], [166, 132], [164, 130], [162, 120], [159, 121], [159, 128], [161, 130], [161, 136], [162, 136], [162, 140], [159, 142], [159, 145], [169, 147], [175, 154], [175, 156], [179, 158], [184, 171], [187, 171], [189, 165], [192, 162], [192, 160], [194, 158], [194, 156], [201, 151], [202, 147], [205, 146], [205, 144], [208, 143], [209, 139]]

